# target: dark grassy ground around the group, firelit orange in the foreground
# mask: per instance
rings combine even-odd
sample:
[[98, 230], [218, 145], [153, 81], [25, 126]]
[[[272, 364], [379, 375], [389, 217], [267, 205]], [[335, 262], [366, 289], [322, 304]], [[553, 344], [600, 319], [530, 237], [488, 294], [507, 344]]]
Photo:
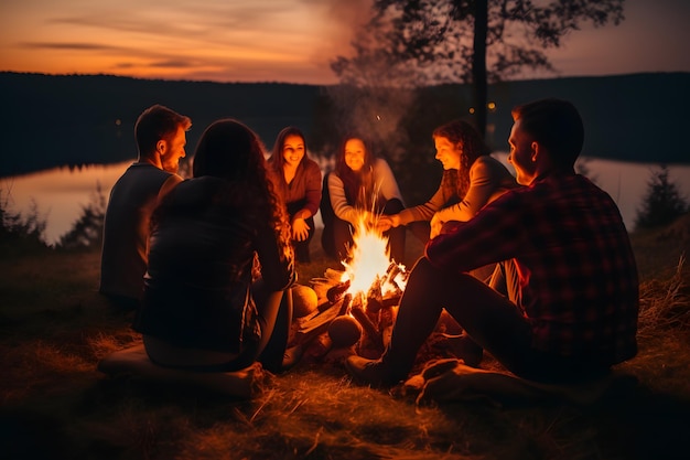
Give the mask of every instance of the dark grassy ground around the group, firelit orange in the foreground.
[[[417, 405], [352, 384], [337, 361], [272, 376], [252, 400], [110, 379], [98, 361], [140, 338], [131, 314], [96, 292], [98, 253], [0, 256], [2, 458], [686, 458], [690, 275], [679, 260], [690, 246], [687, 224], [635, 235], [639, 354], [619, 368], [638, 385], [586, 407]], [[327, 266], [317, 246], [314, 261], [299, 267], [303, 284]], [[409, 258], [420, 250], [411, 240]]]

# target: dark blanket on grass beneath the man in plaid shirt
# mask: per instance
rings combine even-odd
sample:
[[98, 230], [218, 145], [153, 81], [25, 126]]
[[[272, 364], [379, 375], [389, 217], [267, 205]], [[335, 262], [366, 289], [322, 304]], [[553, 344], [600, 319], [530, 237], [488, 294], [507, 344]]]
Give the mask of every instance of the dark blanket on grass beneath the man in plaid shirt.
[[417, 395], [418, 404], [483, 399], [495, 406], [549, 402], [587, 406], [612, 394], [619, 396], [635, 385], [635, 376], [617, 371], [591, 382], [557, 385], [526, 381], [507, 372], [470, 367], [462, 360], [444, 359], [430, 362], [420, 374], [410, 377], [403, 391]]

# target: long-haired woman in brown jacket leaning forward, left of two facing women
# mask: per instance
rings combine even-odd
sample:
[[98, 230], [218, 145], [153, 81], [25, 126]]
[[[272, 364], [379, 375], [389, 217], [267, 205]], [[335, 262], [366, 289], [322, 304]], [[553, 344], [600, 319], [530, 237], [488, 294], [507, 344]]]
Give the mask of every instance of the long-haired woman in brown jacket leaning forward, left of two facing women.
[[314, 214], [321, 204], [321, 170], [306, 156], [306, 139], [302, 130], [289, 126], [278, 133], [268, 170], [276, 193], [288, 206], [297, 260], [310, 263], [309, 244], [314, 236]]

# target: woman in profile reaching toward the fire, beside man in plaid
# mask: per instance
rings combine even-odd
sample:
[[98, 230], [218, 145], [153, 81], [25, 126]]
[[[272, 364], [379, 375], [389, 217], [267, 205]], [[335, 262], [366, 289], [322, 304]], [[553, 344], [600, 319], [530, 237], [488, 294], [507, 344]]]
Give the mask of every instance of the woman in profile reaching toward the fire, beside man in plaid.
[[466, 222], [487, 203], [518, 186], [515, 178], [489, 156], [479, 132], [465, 120], [453, 120], [434, 129], [436, 160], [443, 164], [439, 190], [424, 203], [398, 214], [382, 216], [382, 228], [430, 222], [431, 229], [420, 238], [427, 242], [450, 221]]

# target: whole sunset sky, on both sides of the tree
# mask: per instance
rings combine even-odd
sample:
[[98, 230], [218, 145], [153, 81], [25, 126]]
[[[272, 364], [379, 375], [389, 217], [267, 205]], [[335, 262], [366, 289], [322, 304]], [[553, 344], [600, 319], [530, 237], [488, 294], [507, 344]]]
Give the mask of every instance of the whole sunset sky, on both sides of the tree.
[[[0, 6], [0, 71], [333, 84], [369, 0], [22, 0]], [[690, 1], [626, 0], [550, 52], [559, 74], [690, 72]], [[526, 77], [535, 75], [524, 75]]]

